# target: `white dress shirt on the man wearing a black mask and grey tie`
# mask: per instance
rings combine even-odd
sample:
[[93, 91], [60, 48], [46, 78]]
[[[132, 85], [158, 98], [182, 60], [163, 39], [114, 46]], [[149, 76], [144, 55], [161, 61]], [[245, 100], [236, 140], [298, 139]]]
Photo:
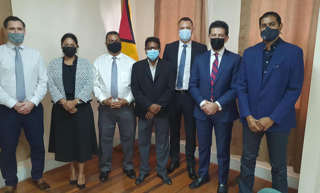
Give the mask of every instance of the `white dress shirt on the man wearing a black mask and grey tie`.
[[[93, 62], [93, 94], [101, 104], [111, 96], [112, 57], [107, 53], [97, 57]], [[134, 59], [123, 53], [116, 56], [118, 97], [127, 100], [129, 104], [134, 100], [131, 92], [131, 71], [134, 63], [136, 63]], [[118, 98], [111, 100], [119, 101]]]

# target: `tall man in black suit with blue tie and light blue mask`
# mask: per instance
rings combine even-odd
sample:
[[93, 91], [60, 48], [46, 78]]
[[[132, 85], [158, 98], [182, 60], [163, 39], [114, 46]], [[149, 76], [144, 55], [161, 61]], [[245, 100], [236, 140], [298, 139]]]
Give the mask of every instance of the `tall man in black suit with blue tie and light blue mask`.
[[181, 18], [178, 22], [180, 40], [165, 45], [163, 59], [174, 67], [177, 75], [175, 84], [175, 95], [172, 101], [174, 113], [170, 117], [170, 157], [171, 164], [167, 168], [172, 173], [175, 168], [180, 167], [180, 128], [181, 114], [183, 113], [186, 131], [186, 157], [189, 178], [196, 179], [197, 173], [194, 169], [196, 159], [196, 119], [193, 116], [195, 101], [188, 91], [188, 84], [192, 64], [196, 55], [206, 52], [207, 46], [191, 40], [193, 23], [190, 18]]

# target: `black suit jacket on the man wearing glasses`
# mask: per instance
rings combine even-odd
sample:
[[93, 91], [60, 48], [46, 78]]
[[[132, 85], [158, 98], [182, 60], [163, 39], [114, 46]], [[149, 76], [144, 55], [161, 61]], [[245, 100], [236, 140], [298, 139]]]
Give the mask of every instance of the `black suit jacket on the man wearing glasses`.
[[136, 100], [134, 115], [146, 118], [147, 109], [152, 104], [161, 106], [156, 117], [170, 117], [173, 113], [170, 105], [174, 96], [176, 73], [168, 61], [158, 59], [154, 81], [147, 59], [133, 64], [131, 74], [131, 91]]

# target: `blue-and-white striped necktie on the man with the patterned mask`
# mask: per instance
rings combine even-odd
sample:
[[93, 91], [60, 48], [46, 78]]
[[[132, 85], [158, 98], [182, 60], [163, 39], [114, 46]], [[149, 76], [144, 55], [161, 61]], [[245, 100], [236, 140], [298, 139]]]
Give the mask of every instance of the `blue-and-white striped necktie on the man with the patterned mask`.
[[23, 64], [20, 55], [20, 47], [14, 47], [16, 50], [16, 57], [14, 59], [15, 71], [16, 71], [16, 95], [19, 101], [23, 101], [26, 98], [26, 88], [24, 84]]

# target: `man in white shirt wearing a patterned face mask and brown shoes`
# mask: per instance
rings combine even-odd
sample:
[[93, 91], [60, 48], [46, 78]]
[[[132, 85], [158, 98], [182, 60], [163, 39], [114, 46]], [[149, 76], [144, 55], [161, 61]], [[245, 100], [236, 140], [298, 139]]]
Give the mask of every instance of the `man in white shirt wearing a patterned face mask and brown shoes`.
[[41, 53], [23, 44], [24, 22], [10, 16], [4, 20], [8, 42], [0, 46], [0, 169], [5, 193], [18, 183], [16, 149], [21, 128], [31, 148], [31, 182], [40, 190], [50, 189], [44, 170], [43, 106], [47, 93], [47, 69]]

